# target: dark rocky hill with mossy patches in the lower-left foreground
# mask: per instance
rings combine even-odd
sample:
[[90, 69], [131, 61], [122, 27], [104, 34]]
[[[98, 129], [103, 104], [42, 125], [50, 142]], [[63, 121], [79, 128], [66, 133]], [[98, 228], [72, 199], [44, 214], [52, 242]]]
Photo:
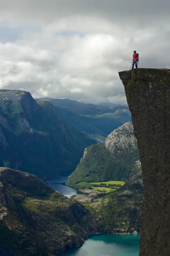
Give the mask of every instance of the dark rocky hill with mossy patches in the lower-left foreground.
[[0, 168], [1, 256], [55, 256], [96, 232], [85, 206], [34, 175]]

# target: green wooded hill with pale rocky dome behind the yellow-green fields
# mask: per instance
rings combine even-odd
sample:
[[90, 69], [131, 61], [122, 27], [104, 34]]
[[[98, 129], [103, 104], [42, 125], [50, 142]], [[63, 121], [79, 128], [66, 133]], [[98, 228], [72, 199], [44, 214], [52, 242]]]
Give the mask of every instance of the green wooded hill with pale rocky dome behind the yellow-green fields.
[[108, 135], [105, 144], [85, 148], [84, 155], [67, 184], [79, 187], [80, 182], [126, 181], [140, 169], [133, 125], [127, 122]]

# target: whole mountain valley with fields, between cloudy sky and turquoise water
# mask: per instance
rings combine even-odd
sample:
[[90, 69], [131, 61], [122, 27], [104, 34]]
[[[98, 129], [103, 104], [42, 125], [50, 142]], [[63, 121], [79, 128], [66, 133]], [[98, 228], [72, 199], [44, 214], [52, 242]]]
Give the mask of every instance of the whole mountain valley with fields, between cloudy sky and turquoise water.
[[139, 234], [144, 191], [126, 107], [66, 109], [11, 90], [0, 99], [1, 254], [52, 256], [93, 233]]

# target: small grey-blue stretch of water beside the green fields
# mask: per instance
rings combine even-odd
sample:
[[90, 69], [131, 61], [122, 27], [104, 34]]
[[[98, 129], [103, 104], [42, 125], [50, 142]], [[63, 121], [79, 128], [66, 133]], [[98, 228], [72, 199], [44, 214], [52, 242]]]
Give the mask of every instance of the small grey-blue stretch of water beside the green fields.
[[68, 181], [68, 177], [57, 177], [48, 180], [44, 180], [49, 186], [57, 190], [59, 193], [70, 198], [72, 195], [80, 194], [77, 189], [65, 186], [64, 183]]

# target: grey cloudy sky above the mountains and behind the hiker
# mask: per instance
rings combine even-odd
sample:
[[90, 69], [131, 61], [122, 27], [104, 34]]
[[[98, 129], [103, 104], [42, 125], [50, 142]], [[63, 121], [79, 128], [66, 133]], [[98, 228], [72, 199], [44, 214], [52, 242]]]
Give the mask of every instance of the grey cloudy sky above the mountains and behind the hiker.
[[133, 50], [170, 68], [170, 0], [0, 0], [0, 89], [125, 104]]

